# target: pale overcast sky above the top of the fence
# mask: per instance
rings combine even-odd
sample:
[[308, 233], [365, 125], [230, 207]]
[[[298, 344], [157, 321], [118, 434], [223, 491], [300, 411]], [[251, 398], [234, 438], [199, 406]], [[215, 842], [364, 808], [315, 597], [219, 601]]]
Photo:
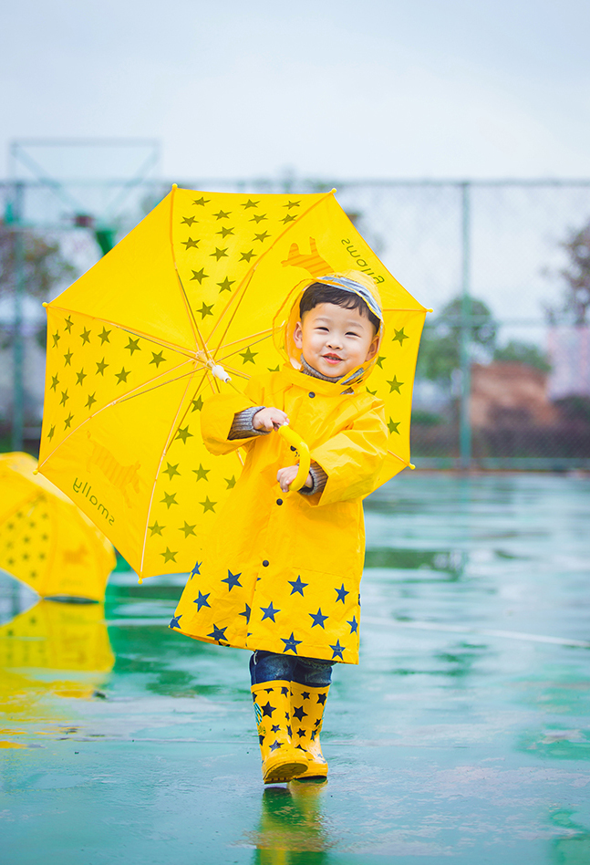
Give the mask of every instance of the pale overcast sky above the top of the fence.
[[18, 0], [0, 150], [146, 136], [171, 180], [588, 177], [589, 33], [587, 0]]

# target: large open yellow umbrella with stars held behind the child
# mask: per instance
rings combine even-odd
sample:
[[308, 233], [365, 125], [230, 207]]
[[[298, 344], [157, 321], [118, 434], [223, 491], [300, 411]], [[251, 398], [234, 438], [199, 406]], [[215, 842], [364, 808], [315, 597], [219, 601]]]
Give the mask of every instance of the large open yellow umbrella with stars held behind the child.
[[273, 336], [288, 318], [285, 298], [314, 277], [351, 268], [373, 278], [384, 307], [385, 339], [369, 387], [388, 412], [386, 481], [409, 464], [426, 310], [333, 193], [173, 188], [48, 305], [39, 471], [140, 577], [191, 569], [241, 471], [239, 456], [214, 460], [202, 444], [203, 401], [226, 373], [242, 388], [250, 376], [278, 369]]

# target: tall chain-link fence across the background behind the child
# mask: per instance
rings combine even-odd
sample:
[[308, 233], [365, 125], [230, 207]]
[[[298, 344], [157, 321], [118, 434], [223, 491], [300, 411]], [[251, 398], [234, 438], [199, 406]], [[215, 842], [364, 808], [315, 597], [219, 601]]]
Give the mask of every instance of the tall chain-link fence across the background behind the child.
[[[191, 179], [179, 185], [247, 193], [336, 187], [339, 203], [391, 273], [434, 309], [414, 391], [418, 466], [590, 468], [585, 307], [575, 319], [561, 311], [572, 284], [567, 274], [581, 280], [584, 300], [587, 274], [579, 272], [581, 259], [574, 261], [572, 244], [566, 244], [590, 220], [590, 181], [290, 178]], [[117, 180], [0, 184], [5, 447], [20, 446], [24, 437], [34, 449], [39, 432], [44, 359], [39, 301], [88, 269], [170, 187]], [[585, 254], [590, 262], [590, 248]], [[590, 306], [590, 283], [587, 287]]]

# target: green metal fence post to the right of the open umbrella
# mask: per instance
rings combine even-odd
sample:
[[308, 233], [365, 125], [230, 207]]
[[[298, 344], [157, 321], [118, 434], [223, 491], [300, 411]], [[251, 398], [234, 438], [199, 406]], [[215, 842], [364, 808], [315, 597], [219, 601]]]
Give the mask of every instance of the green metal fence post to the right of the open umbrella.
[[459, 463], [471, 468], [471, 183], [461, 183], [461, 404], [459, 415]]

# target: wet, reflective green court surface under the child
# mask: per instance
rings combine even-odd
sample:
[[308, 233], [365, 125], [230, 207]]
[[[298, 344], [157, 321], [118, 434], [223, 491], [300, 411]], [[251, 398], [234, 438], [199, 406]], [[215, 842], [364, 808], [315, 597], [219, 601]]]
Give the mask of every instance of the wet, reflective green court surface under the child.
[[181, 579], [16, 618], [2, 581], [0, 861], [588, 865], [590, 480], [408, 473], [366, 514], [323, 785], [264, 789], [247, 655], [165, 627]]

